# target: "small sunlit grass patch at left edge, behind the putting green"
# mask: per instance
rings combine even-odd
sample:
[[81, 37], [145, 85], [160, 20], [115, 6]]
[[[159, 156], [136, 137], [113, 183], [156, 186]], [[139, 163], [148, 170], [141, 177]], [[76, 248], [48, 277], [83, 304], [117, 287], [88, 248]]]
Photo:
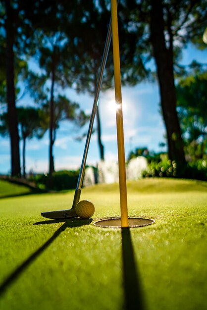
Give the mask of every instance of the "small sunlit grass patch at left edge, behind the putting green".
[[0, 180], [0, 198], [7, 196], [19, 196], [31, 192], [26, 186], [13, 184], [7, 181]]

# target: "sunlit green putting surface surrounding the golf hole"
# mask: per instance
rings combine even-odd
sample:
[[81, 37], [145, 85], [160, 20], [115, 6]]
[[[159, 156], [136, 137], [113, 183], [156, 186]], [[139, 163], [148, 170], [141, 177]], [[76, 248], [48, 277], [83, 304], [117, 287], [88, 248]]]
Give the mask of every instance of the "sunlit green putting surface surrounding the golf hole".
[[[207, 309], [207, 183], [128, 183], [129, 216], [155, 219], [130, 233], [41, 217], [70, 208], [73, 194], [0, 199], [0, 283], [11, 276], [0, 310], [120, 310], [136, 285], [145, 305], [136, 309]], [[95, 204], [93, 221], [120, 214], [117, 184], [85, 188], [81, 198]]]

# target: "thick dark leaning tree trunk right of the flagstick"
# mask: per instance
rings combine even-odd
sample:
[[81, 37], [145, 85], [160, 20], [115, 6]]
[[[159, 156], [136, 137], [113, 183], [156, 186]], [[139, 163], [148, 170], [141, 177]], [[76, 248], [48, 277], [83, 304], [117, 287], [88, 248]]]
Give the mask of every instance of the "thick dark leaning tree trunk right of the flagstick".
[[186, 160], [176, 111], [172, 40], [170, 38], [170, 47], [167, 48], [164, 38], [162, 1], [152, 0], [151, 4], [151, 42], [157, 68], [162, 113], [167, 131], [168, 154], [171, 160], [176, 160], [178, 166], [182, 167], [186, 165]]

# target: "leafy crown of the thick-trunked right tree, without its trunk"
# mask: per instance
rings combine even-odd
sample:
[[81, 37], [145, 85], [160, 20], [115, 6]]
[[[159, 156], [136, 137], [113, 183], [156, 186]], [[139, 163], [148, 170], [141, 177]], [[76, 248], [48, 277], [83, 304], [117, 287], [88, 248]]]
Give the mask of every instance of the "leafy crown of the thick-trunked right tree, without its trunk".
[[[131, 42], [130, 51], [133, 53], [131, 59], [136, 61], [139, 58], [142, 66], [148, 69], [148, 76], [151, 72], [152, 78], [155, 78], [155, 66], [152, 65], [152, 58], [155, 55], [152, 48], [152, 29], [150, 29], [153, 1], [120, 0], [119, 2], [120, 23], [124, 24], [130, 34], [136, 34], [134, 41]], [[186, 47], [189, 42], [195, 44], [199, 49], [207, 48], [202, 40], [207, 19], [206, 1], [162, 0], [162, 14], [165, 47], [168, 51], [173, 48], [174, 69], [178, 73], [181, 69], [178, 64], [182, 48]], [[136, 70], [135, 68], [131, 69]], [[131, 83], [130, 79], [129, 83]]]

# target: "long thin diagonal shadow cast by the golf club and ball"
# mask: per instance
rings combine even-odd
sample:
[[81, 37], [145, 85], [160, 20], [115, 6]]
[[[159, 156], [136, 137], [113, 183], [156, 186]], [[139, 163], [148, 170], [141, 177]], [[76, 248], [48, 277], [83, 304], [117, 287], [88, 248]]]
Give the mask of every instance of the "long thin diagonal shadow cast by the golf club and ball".
[[49, 220], [49, 221], [42, 221], [38, 223], [34, 223], [34, 225], [40, 224], [51, 224], [51, 223], [58, 223], [64, 221], [64, 224], [60, 226], [52, 235], [52, 237], [46, 241], [36, 252], [34, 252], [29, 258], [27, 258], [20, 266], [18, 266], [4, 281], [0, 284], [0, 295], [4, 293], [4, 291], [15, 281], [21, 273], [26, 269], [40, 254], [42, 254], [51, 244], [52, 242], [63, 232], [67, 227], [77, 227], [88, 225], [92, 222], [92, 218], [90, 219], [75, 219], [72, 220]]

